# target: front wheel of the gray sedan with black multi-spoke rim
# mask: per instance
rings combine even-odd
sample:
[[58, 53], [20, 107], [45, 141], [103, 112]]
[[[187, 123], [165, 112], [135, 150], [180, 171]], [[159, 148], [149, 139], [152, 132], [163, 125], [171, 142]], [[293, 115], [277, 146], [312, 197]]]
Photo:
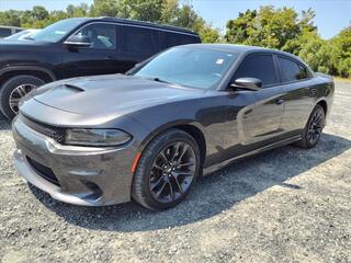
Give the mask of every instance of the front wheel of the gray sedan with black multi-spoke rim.
[[[165, 158], [170, 161], [168, 164], [165, 164]], [[132, 197], [152, 210], [178, 205], [186, 197], [196, 181], [200, 162], [199, 146], [188, 133], [169, 129], [158, 135], [148, 144], [138, 161], [133, 178]], [[193, 175], [189, 175], [191, 173]], [[177, 176], [173, 176], [176, 174]]]

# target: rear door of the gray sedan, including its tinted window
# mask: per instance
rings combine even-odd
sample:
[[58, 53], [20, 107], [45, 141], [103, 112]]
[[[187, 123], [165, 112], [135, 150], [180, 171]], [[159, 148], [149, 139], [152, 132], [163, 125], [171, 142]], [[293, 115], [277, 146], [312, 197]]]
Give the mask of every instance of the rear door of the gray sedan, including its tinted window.
[[314, 107], [314, 80], [309, 70], [299, 61], [278, 56], [281, 82], [285, 88], [285, 111], [281, 128], [290, 134], [301, 134]]

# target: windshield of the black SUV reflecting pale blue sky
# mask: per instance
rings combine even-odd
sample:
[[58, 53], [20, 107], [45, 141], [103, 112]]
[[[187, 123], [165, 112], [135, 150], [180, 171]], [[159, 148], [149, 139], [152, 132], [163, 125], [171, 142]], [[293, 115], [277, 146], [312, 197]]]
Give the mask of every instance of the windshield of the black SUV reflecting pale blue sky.
[[30, 39], [57, 43], [63, 39], [70, 31], [76, 28], [84, 19], [67, 19], [46, 26], [44, 30], [30, 36]]

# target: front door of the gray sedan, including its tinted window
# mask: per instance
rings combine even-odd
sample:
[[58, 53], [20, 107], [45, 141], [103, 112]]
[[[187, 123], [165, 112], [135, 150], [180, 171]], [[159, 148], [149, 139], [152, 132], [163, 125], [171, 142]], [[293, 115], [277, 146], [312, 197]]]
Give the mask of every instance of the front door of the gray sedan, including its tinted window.
[[[228, 95], [228, 132], [226, 144], [235, 147], [227, 155], [241, 155], [276, 140], [281, 134], [284, 111], [284, 90], [279, 85], [275, 59], [272, 54], [248, 55], [233, 76], [258, 78], [259, 91], [237, 90]], [[235, 153], [234, 153], [235, 152]], [[226, 159], [233, 156], [226, 156]]]

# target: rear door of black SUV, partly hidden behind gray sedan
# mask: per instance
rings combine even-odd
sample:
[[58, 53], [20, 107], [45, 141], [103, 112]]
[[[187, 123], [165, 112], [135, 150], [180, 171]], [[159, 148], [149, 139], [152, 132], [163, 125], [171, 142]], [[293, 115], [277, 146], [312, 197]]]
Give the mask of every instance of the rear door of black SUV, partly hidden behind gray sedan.
[[120, 60], [121, 70], [125, 72], [155, 55], [159, 50], [159, 41], [156, 30], [134, 25], [122, 27], [123, 44]]

